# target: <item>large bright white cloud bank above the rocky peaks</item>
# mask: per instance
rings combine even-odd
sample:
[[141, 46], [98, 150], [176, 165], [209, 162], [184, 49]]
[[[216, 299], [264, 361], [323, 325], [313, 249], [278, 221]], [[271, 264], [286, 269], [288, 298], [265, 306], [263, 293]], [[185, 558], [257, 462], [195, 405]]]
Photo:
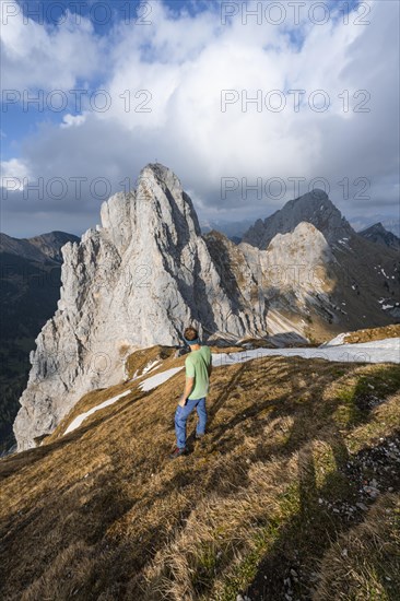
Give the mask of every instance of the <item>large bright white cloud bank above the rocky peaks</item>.
[[[195, 17], [178, 17], [161, 2], [152, 2], [152, 25], [120, 22], [102, 42], [89, 23], [81, 30], [66, 26], [51, 32], [33, 25], [30, 43], [14, 32], [9, 47], [22, 40], [22, 55], [13, 58], [21, 81], [31, 66], [27, 55], [35, 55], [44, 45], [43, 79], [47, 83], [52, 81], [52, 72], [66, 64], [66, 74], [60, 75], [64, 82], [59, 85], [68, 90], [70, 82], [93, 74], [99, 61], [105, 69], [101, 87], [110, 98], [105, 113], [93, 110], [93, 106], [90, 113], [86, 105], [84, 117], [67, 115], [61, 127], [40, 128], [26, 140], [22, 160], [26, 158], [33, 174], [66, 178], [104, 175], [118, 187], [126, 177], [134, 181], [140, 168], [157, 158], [174, 168], [201, 199], [195, 204], [204, 216], [215, 212], [233, 220], [267, 215], [293, 198], [290, 177], [305, 178], [307, 187], [315, 177], [327, 179], [332, 200], [346, 215], [364, 208], [390, 210], [397, 199], [399, 158], [399, 5], [393, 4], [388, 0], [370, 2], [369, 25], [354, 24], [353, 15], [348, 25], [339, 20], [318, 26], [303, 13], [296, 30], [304, 36], [301, 47], [291, 40], [290, 21], [278, 27], [257, 25], [254, 19], [244, 25], [235, 17], [222, 26], [214, 9]], [[31, 79], [26, 75], [27, 81], [35, 79], [37, 84], [39, 67], [32, 69], [34, 74]], [[235, 90], [239, 97], [225, 113], [221, 110], [222, 90]], [[293, 95], [286, 94], [287, 105], [281, 113], [264, 106], [258, 113], [254, 104], [243, 113], [240, 96], [247, 93], [252, 97], [258, 90], [262, 101], [272, 90], [305, 90], [305, 102], [295, 113]], [[329, 94], [331, 106], [326, 113], [307, 105], [316, 90]], [[339, 97], [345, 90], [348, 113]], [[357, 90], [370, 94], [369, 113], [353, 111], [355, 102], [363, 99], [363, 95], [353, 98]], [[151, 111], [143, 110], [146, 108]], [[247, 177], [249, 184], [257, 178], [262, 178], [262, 184], [282, 178], [287, 192], [268, 202], [255, 197], [244, 200], [239, 191], [222, 200], [221, 178], [227, 176], [238, 181]], [[362, 198], [362, 185], [354, 185], [360, 177], [370, 180], [370, 200]], [[349, 178], [348, 200], [339, 184], [343, 178]], [[87, 210], [89, 199], [85, 202]], [[48, 208], [54, 205], [48, 203]], [[80, 207], [73, 207], [78, 223]], [[92, 207], [95, 223], [97, 207]]]

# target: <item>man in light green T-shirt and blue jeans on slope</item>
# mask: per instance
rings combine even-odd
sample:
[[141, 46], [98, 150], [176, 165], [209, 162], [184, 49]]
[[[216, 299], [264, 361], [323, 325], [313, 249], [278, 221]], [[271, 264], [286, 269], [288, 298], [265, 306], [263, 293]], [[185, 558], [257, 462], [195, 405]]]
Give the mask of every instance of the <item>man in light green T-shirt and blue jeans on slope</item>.
[[186, 328], [184, 340], [190, 346], [190, 354], [186, 357], [186, 384], [175, 413], [176, 449], [170, 459], [186, 452], [186, 422], [193, 409], [199, 416], [196, 427], [196, 438], [205, 433], [207, 411], [205, 396], [209, 390], [211, 375], [211, 351], [209, 346], [200, 344], [199, 333], [195, 328]]

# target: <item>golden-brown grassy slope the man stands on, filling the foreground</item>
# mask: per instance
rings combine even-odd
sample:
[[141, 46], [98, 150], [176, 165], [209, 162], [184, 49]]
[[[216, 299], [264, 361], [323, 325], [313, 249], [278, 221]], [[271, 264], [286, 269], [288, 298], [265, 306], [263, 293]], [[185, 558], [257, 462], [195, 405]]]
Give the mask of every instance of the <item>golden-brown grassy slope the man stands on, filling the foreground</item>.
[[191, 419], [191, 452], [172, 462], [183, 381], [92, 392], [44, 446], [0, 461], [1, 598], [398, 599], [398, 366], [263, 357], [216, 368], [209, 433], [195, 443]]

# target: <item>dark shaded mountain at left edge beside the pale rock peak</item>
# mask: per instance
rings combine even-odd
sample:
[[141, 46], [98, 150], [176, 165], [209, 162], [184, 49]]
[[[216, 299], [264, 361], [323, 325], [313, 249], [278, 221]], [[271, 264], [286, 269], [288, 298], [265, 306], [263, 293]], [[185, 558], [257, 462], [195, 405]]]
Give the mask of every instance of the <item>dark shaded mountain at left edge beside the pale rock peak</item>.
[[12, 423], [35, 338], [60, 297], [60, 249], [78, 240], [63, 232], [23, 239], [0, 234], [0, 451], [13, 440]]

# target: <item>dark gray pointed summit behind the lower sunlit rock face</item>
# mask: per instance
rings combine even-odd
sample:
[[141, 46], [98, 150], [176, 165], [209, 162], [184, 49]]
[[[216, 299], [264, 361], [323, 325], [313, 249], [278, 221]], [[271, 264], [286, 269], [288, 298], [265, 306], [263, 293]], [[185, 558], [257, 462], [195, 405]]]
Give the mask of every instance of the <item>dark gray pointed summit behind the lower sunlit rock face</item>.
[[328, 243], [354, 234], [350, 223], [329, 200], [323, 190], [314, 189], [299, 198], [290, 200], [264, 221], [257, 220], [243, 236], [242, 241], [266, 249], [277, 234], [287, 234], [307, 222], [323, 234]]

